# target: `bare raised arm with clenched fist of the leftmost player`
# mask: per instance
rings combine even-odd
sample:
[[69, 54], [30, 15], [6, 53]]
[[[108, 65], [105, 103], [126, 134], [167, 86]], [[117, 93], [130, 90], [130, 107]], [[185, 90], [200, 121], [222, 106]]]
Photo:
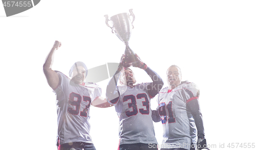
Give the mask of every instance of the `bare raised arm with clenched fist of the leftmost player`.
[[54, 45], [50, 53], [48, 54], [43, 66], [47, 82], [52, 89], [56, 88], [59, 83], [58, 74], [54, 70], [52, 70], [52, 64], [53, 64], [54, 53], [60, 46], [61, 46], [61, 43], [59, 41], [54, 42]]

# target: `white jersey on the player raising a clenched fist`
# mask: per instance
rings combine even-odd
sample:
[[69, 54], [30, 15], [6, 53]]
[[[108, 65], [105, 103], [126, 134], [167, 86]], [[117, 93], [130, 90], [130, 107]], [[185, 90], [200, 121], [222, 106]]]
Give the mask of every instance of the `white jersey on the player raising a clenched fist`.
[[74, 84], [65, 74], [56, 72], [59, 85], [54, 92], [56, 93], [59, 144], [78, 141], [93, 143], [89, 135], [90, 105], [101, 95], [101, 88], [96, 84], [90, 87]]

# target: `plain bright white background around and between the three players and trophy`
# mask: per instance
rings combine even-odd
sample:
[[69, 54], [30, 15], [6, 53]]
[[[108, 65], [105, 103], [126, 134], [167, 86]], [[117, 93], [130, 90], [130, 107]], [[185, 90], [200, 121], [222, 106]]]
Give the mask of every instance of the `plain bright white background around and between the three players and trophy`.
[[[129, 45], [164, 86], [166, 69], [176, 64], [183, 80], [200, 87], [210, 149], [255, 143], [255, 8], [255, 1], [44, 0], [6, 17], [0, 6], [1, 149], [56, 149], [55, 94], [42, 71], [46, 56], [59, 40], [54, 70], [68, 75], [76, 61], [88, 68], [118, 63], [125, 45], [105, 25], [104, 15], [129, 9], [136, 17]], [[135, 68], [135, 76], [138, 83], [151, 82], [141, 69]], [[98, 83], [103, 94], [108, 81]], [[91, 107], [90, 123], [97, 149], [117, 149], [114, 107]], [[162, 124], [154, 126], [161, 143]]]

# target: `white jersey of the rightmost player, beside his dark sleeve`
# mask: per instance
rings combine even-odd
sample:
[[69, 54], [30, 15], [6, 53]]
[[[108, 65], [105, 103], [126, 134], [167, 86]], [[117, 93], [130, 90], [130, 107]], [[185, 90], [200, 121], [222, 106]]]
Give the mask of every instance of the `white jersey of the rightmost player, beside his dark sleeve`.
[[[163, 148], [190, 149], [196, 143], [196, 127], [186, 104], [199, 97], [199, 88], [194, 83], [185, 82], [173, 90], [162, 89], [157, 97], [157, 108], [163, 124]], [[192, 137], [191, 137], [192, 136]], [[193, 138], [193, 139], [192, 139]]]

